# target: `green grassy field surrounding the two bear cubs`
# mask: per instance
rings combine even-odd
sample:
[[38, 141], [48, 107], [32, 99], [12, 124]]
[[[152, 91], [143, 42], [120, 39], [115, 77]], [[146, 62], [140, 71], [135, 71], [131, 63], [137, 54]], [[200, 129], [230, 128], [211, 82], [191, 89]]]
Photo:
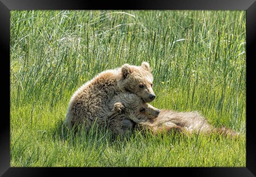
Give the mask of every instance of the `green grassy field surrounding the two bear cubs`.
[[[10, 15], [11, 166], [246, 166], [245, 11]], [[198, 111], [240, 138], [62, 129], [83, 83], [142, 61], [152, 68], [154, 107]]]

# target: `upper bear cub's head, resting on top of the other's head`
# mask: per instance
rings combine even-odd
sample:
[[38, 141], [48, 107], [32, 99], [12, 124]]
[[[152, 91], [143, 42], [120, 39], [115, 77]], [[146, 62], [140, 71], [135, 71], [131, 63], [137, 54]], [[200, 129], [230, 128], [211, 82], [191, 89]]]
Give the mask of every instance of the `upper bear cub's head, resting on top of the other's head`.
[[143, 62], [141, 66], [123, 65], [121, 67], [121, 82], [119, 84], [122, 89], [136, 94], [146, 103], [156, 98], [152, 89], [153, 75], [147, 62]]

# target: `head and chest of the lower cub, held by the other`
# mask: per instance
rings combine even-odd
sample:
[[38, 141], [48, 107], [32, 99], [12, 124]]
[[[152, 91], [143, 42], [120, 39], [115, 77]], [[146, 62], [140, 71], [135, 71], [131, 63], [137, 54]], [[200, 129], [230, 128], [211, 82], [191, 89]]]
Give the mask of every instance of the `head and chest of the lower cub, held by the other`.
[[111, 111], [106, 112], [104, 117], [106, 122], [104, 126], [122, 135], [128, 129], [133, 129], [136, 123], [157, 118], [160, 113], [159, 109], [145, 103], [137, 95], [125, 92], [113, 96], [109, 110]]

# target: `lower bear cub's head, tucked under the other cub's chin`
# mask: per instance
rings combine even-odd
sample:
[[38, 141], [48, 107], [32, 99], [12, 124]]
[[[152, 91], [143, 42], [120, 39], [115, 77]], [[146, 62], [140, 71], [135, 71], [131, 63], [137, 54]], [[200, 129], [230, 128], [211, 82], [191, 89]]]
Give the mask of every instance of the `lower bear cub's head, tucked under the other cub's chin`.
[[135, 123], [157, 118], [160, 110], [145, 103], [135, 94], [121, 94], [113, 104], [113, 111]]

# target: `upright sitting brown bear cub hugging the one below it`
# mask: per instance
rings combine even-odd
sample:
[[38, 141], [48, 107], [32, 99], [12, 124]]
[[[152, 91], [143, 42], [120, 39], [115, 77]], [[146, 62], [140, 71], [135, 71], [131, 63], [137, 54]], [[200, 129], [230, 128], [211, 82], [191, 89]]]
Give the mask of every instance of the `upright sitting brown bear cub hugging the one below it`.
[[152, 90], [153, 76], [150, 66], [125, 64], [121, 68], [101, 72], [83, 84], [71, 97], [65, 124], [72, 129], [74, 124], [91, 127], [98, 120], [103, 124], [106, 112], [111, 112], [109, 102], [119, 93], [133, 93], [145, 102], [156, 97]]

